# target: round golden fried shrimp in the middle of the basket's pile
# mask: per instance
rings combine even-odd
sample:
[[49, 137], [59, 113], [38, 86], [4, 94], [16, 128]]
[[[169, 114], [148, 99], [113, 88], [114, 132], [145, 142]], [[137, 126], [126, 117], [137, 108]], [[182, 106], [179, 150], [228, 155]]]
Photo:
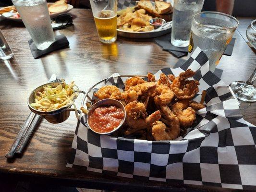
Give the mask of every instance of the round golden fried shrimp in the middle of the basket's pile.
[[154, 97], [154, 101], [157, 105], [169, 105], [174, 96], [174, 93], [167, 85], [158, 85], [156, 94], [157, 96]]

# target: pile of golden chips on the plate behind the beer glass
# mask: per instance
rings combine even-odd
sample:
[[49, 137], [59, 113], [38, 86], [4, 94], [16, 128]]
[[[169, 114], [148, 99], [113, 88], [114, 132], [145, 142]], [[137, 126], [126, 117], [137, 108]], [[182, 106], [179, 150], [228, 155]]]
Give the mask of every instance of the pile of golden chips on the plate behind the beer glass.
[[146, 14], [144, 9], [132, 12], [127, 8], [122, 15], [117, 18], [117, 28], [125, 31], [152, 31], [154, 26], [150, 25], [151, 16]]

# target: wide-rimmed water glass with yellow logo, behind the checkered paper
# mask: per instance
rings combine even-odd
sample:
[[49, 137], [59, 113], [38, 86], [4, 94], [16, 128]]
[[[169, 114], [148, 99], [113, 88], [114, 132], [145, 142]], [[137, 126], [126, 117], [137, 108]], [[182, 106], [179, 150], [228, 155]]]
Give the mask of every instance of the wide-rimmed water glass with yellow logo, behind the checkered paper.
[[238, 24], [236, 18], [225, 13], [197, 13], [192, 22], [188, 57], [196, 47], [201, 48], [208, 57], [210, 71], [214, 72]]

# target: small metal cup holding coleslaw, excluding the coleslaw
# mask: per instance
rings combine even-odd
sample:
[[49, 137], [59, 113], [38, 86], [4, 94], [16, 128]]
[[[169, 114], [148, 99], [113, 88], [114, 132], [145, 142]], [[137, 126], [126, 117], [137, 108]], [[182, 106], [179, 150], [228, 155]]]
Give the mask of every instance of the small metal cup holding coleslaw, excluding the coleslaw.
[[[61, 123], [61, 122], [65, 121], [65, 120], [67, 120], [69, 118], [70, 111], [74, 111], [75, 110], [74, 108], [71, 108], [72, 105], [64, 107], [64, 108], [55, 109], [55, 110], [52, 110], [52, 111], [39, 111], [39, 110], [31, 107], [30, 104], [34, 102], [34, 99], [35, 99], [34, 98], [34, 93], [37, 93], [38, 91], [42, 92], [43, 89], [44, 89], [43, 86], [50, 85], [52, 87], [57, 87], [59, 84], [61, 84], [62, 87], [64, 87], [64, 84], [63, 83], [59, 83], [59, 82], [43, 84], [43, 85], [37, 87], [36, 89], [34, 89], [30, 93], [30, 95], [28, 96], [28, 99], [27, 99], [28, 108], [32, 112], [36, 113], [37, 115], [43, 116], [43, 118], [48, 120], [50, 123], [54, 123], [54, 124]], [[74, 90], [74, 91], [76, 91], [76, 90]], [[84, 93], [83, 91], [78, 91], [78, 90], [77, 90], [77, 92]], [[74, 100], [75, 100], [75, 98], [74, 98]], [[80, 112], [80, 111], [78, 110], [78, 112]]]

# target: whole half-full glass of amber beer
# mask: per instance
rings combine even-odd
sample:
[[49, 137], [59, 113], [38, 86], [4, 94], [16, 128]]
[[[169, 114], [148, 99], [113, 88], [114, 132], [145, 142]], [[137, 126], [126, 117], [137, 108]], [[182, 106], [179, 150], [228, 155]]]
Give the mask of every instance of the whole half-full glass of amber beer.
[[117, 0], [90, 0], [94, 21], [102, 43], [116, 40]]

